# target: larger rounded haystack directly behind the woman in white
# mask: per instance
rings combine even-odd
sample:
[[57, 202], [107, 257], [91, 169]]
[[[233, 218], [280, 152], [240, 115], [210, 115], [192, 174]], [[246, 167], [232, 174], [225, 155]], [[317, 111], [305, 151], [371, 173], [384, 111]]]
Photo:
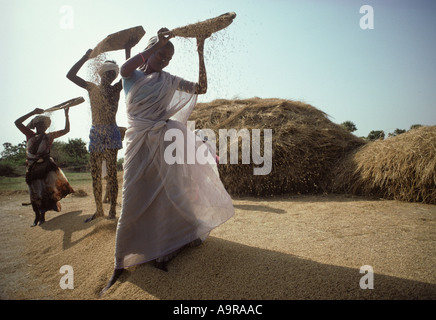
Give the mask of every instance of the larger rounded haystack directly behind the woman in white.
[[[259, 165], [253, 161], [242, 164], [241, 141], [238, 164], [228, 159], [227, 164], [218, 166], [221, 180], [232, 195], [328, 191], [325, 181], [333, 165], [365, 143], [331, 122], [324, 112], [298, 101], [215, 100], [198, 104], [190, 120], [195, 120], [197, 129], [213, 130], [217, 140], [219, 129], [259, 129], [261, 136], [265, 129], [272, 129], [272, 170], [268, 175], [254, 175], [253, 169]], [[262, 155], [264, 143], [260, 145]], [[218, 143], [217, 151], [222, 152]]]

